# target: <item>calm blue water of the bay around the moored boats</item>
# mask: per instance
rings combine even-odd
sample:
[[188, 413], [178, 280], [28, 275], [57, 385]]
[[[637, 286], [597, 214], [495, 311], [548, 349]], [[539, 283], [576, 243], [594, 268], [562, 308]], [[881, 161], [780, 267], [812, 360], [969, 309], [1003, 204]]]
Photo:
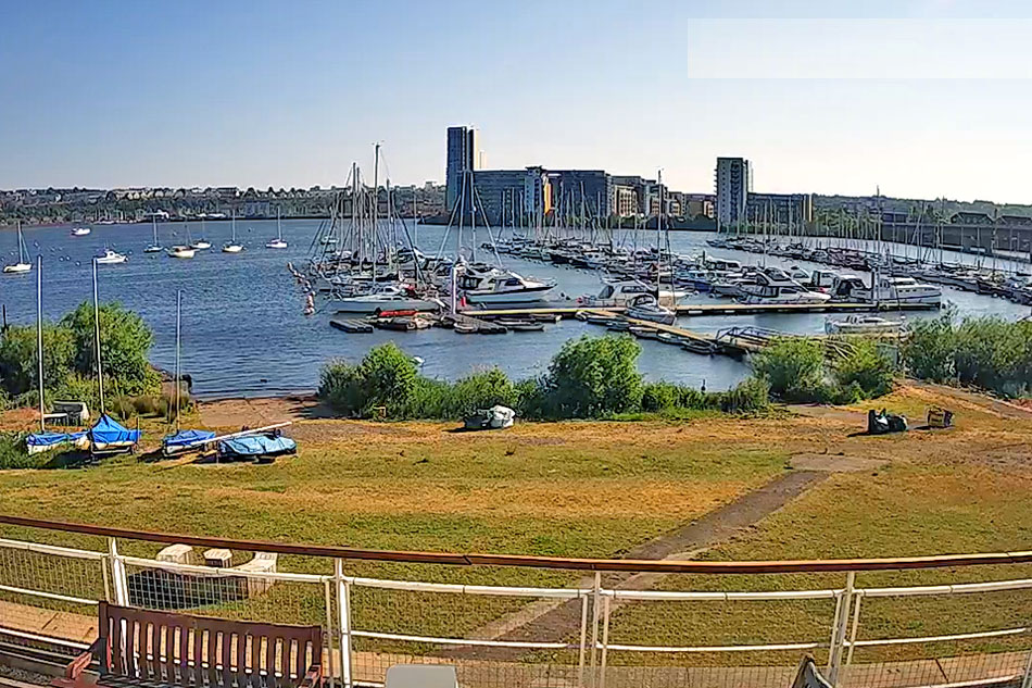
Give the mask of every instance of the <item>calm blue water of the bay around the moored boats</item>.
[[[458, 336], [431, 328], [416, 333], [376, 330], [372, 335], [349, 335], [328, 324], [332, 310], [306, 317], [302, 314], [303, 296], [286, 270], [287, 261], [300, 264], [310, 252], [318, 221], [284, 222], [284, 238], [290, 248], [267, 250], [265, 241], [276, 234], [276, 223], [238, 222], [237, 239], [246, 250], [226, 254], [219, 249], [229, 240], [228, 222], [191, 224], [194, 239], [203, 234], [212, 242], [209, 251], [198, 251], [193, 260], [175, 260], [164, 253], [146, 254], [151, 242], [150, 225], [97, 226], [88, 237], [73, 238], [68, 227], [24, 229], [29, 253], [43, 257], [43, 311], [47, 318], [59, 318], [77, 303], [91, 298], [90, 258], [104, 246], [127, 253], [129, 261], [98, 268], [102, 301], [117, 300], [140, 313], [154, 330], [151, 360], [171, 370], [175, 364], [176, 290], [183, 289], [183, 365], [194, 380], [200, 396], [261, 396], [306, 391], [318, 384], [320, 366], [332, 358], [361, 359], [369, 348], [394, 340], [402, 349], [425, 359], [423, 372], [429, 376], [454, 379], [498, 365], [513, 377], [539, 375], [564, 341], [582, 334], [601, 334], [602, 328], [575, 320], [548, 326], [544, 333], [511, 333], [493, 337]], [[164, 246], [185, 242], [181, 224], [159, 226]], [[436, 252], [442, 227], [418, 228], [417, 243]], [[642, 235], [643, 237], [645, 235]], [[706, 247], [712, 235], [671, 234], [670, 243], [679, 253]], [[481, 234], [479, 240], [486, 239]], [[654, 237], [652, 237], [654, 240]], [[453, 240], [453, 239], [452, 239]], [[450, 241], [451, 242], [451, 241]], [[643, 239], [644, 242], [644, 239]], [[452, 249], [453, 250], [453, 249]], [[714, 255], [742, 262], [759, 257], [737, 251], [709, 250]], [[0, 260], [13, 262], [17, 255], [13, 230], [0, 232]], [[562, 298], [596, 293], [597, 275], [551, 264], [531, 263], [503, 257], [505, 265], [523, 274], [554, 277]], [[955, 257], [951, 260], [959, 259]], [[972, 257], [965, 257], [971, 262]], [[778, 259], [769, 259], [781, 264]], [[803, 266], [807, 268], [815, 265]], [[0, 275], [0, 303], [14, 323], [35, 322], [35, 277]], [[1002, 299], [982, 297], [946, 288], [946, 298], [962, 314], [998, 313], [1019, 317], [1028, 307]], [[697, 297], [708, 302], [708, 297]], [[927, 314], [910, 314], [922, 317]], [[681, 325], [699, 332], [715, 333], [735, 325], [756, 325], [790, 333], [822, 333], [825, 315], [742, 315], [681, 318]], [[652, 379], [667, 379], [709, 389], [734, 386], [748, 375], [746, 365], [731, 359], [694, 355], [676, 347], [654, 341], [642, 342], [641, 371]]]

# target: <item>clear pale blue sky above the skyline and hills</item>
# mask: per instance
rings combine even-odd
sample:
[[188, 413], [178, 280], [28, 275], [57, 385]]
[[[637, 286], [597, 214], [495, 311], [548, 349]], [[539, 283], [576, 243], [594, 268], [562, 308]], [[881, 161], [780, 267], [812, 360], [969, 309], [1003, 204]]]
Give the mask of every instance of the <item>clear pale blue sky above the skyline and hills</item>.
[[468, 124], [491, 168], [1030, 203], [1025, 4], [0, 0], [0, 188], [441, 182]]

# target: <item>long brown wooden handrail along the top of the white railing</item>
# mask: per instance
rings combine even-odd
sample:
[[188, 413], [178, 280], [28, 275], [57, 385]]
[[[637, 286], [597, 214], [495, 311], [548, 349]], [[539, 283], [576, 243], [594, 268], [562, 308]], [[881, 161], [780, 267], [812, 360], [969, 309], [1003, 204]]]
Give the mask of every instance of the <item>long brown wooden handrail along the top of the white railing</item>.
[[886, 559], [826, 559], [801, 561], [742, 561], [706, 562], [672, 561], [652, 559], [570, 559], [565, 556], [533, 556], [520, 554], [460, 554], [449, 552], [406, 552], [393, 550], [369, 550], [328, 545], [298, 545], [288, 542], [266, 542], [262, 540], [238, 540], [197, 535], [176, 535], [130, 530], [83, 523], [41, 521], [22, 516], [0, 514], [0, 523], [28, 528], [80, 533], [100, 537], [147, 540], [166, 545], [190, 545], [192, 547], [215, 547], [253, 552], [276, 552], [277, 554], [301, 554], [306, 556], [327, 556], [331, 559], [354, 559], [363, 561], [388, 561], [423, 564], [452, 564], [462, 566], [525, 566], [530, 568], [565, 568], [571, 571], [607, 572], [650, 572], [650, 573], [694, 573], [694, 574], [781, 574], [818, 573], [841, 571], [904, 571], [911, 568], [942, 568], [947, 566], [980, 566], [991, 564], [1032, 563], [1032, 551], [989, 552], [978, 554], [940, 554], [933, 556], [902, 556]]

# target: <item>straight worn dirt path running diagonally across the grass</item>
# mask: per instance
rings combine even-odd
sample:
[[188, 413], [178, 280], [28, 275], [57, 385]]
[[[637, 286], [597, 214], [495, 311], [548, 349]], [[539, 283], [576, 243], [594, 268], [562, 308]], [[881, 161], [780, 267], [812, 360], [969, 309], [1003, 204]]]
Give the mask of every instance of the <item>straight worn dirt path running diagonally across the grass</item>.
[[[727, 540], [737, 530], [754, 525], [778, 511], [828, 475], [820, 471], [785, 473], [677, 530], [629, 550], [625, 559], [697, 556]], [[615, 589], [643, 589], [655, 586], [663, 576], [653, 573], [614, 573], [603, 576], [602, 585]], [[591, 587], [593, 584], [592, 578], [586, 578], [579, 585]], [[580, 616], [579, 600], [541, 600], [488, 624], [470, 637], [481, 640], [561, 642], [576, 636], [580, 628]], [[456, 648], [449, 652], [449, 656], [512, 661], [525, 652], [518, 648]]]

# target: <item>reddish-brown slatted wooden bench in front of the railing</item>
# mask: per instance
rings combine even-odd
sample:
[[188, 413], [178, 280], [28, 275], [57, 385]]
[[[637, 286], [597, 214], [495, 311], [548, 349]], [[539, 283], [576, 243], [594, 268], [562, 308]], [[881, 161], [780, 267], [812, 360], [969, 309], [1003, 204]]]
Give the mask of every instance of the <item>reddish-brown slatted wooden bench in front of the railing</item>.
[[317, 688], [323, 629], [225, 621], [100, 602], [98, 638], [76, 658], [60, 688], [83, 688], [91, 662], [111, 688]]

